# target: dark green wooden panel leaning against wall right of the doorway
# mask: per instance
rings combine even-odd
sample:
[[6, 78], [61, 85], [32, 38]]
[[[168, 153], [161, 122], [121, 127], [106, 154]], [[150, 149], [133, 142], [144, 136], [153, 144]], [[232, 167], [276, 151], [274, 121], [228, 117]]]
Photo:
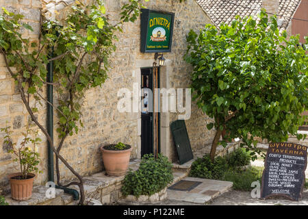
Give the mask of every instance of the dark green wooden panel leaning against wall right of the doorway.
[[192, 147], [190, 145], [190, 138], [186, 129], [184, 120], [176, 120], [171, 123], [171, 132], [175, 147], [177, 148], [177, 155], [179, 157], [179, 164], [185, 164], [185, 162], [193, 159]]

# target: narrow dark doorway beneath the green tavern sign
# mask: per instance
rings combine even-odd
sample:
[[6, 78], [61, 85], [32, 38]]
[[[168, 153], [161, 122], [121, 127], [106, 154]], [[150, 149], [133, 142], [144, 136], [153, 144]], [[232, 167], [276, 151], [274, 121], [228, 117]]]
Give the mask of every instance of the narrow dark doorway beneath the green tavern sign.
[[[155, 124], [153, 120], [153, 86], [153, 68], [141, 68], [141, 157], [153, 153], [153, 127]], [[159, 83], [157, 87], [159, 88]], [[159, 117], [158, 122], [160, 122]]]

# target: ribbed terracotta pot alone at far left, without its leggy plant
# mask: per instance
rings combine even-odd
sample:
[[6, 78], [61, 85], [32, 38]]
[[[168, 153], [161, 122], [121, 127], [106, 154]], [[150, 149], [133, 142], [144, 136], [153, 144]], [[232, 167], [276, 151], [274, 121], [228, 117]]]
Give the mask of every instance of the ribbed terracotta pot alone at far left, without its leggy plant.
[[33, 181], [36, 175], [29, 173], [29, 179], [12, 179], [21, 176], [21, 172], [8, 175], [11, 185], [11, 196], [17, 201], [26, 201], [32, 196]]

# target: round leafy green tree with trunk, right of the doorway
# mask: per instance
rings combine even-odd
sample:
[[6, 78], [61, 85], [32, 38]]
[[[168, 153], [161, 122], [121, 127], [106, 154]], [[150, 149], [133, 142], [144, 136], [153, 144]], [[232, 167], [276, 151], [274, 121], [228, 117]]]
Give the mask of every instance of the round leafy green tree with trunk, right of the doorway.
[[[217, 145], [226, 146], [231, 138], [242, 139], [255, 159], [255, 137], [271, 142], [285, 142], [288, 134], [306, 137], [297, 130], [308, 106], [307, 37], [303, 47], [298, 36], [287, 40], [276, 16], [268, 19], [262, 10], [258, 22], [237, 16], [219, 30], [206, 25], [199, 35], [190, 31], [187, 42], [194, 100], [214, 118], [207, 125], [216, 128], [211, 159]], [[218, 142], [224, 129], [227, 137]]]

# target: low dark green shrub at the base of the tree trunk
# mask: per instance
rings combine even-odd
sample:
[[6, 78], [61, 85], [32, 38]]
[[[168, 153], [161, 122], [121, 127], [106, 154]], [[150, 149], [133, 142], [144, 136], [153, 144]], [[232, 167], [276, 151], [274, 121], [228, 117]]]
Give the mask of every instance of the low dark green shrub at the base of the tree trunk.
[[192, 163], [190, 177], [220, 179], [228, 169], [229, 167], [224, 157], [215, 157], [214, 162], [211, 162], [209, 155], [205, 155]]

